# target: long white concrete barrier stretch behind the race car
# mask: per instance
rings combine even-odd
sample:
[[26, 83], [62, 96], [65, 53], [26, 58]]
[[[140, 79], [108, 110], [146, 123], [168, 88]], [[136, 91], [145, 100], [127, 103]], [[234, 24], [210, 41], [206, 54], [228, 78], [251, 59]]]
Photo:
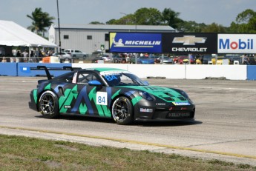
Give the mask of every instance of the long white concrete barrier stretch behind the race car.
[[[73, 67], [114, 67], [128, 70], [140, 78], [165, 77], [171, 79], [226, 78], [246, 80], [246, 65], [200, 64], [72, 64]], [[256, 67], [256, 66], [255, 66]]]

